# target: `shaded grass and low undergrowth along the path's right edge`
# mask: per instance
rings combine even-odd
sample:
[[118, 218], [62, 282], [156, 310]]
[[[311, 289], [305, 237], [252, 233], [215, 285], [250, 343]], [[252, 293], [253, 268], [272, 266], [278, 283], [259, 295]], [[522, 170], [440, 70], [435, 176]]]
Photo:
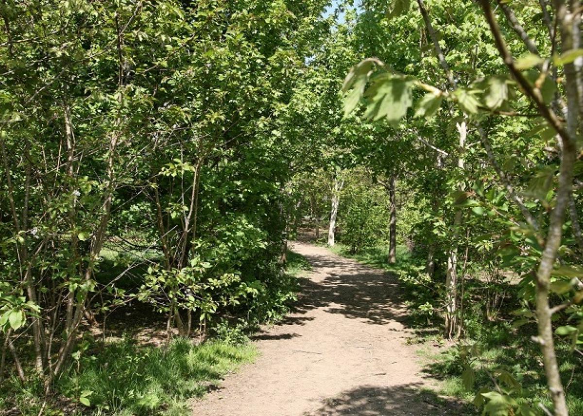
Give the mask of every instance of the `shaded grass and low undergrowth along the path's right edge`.
[[[438, 329], [442, 325], [438, 297], [442, 288], [435, 282], [424, 281], [425, 259], [415, 256], [405, 246], [398, 246], [395, 264], [388, 263], [388, 246], [385, 245], [363, 249], [359, 253], [351, 253], [349, 246], [342, 244], [332, 246], [331, 250], [387, 270], [399, 278], [402, 298], [409, 309], [408, 323], [416, 329], [410, 342], [419, 344], [419, 354], [426, 361], [424, 372], [442, 380], [441, 394], [473, 403], [476, 392], [484, 387], [488, 391], [507, 389], [508, 386], [498, 382], [499, 376], [503, 375], [504, 379], [507, 373], [508, 383], [514, 383], [510, 377], [518, 382], [514, 388], [518, 390], [515, 396], [519, 403], [540, 402], [547, 408], [551, 406], [540, 347], [532, 340], [537, 333], [536, 324], [515, 325], [517, 316], [513, 312], [520, 306], [516, 299], [505, 297], [496, 311], [487, 313], [485, 304], [487, 292], [491, 290], [489, 284], [468, 276], [464, 282], [463, 332], [458, 342], [448, 343]], [[498, 292], [515, 290], [515, 284], [500, 285]], [[583, 365], [583, 357], [571, 350], [566, 342], [557, 343], [557, 357], [561, 363], [570, 414], [583, 414], [583, 373], [578, 371]], [[471, 373], [466, 371], [468, 367], [472, 369]]]

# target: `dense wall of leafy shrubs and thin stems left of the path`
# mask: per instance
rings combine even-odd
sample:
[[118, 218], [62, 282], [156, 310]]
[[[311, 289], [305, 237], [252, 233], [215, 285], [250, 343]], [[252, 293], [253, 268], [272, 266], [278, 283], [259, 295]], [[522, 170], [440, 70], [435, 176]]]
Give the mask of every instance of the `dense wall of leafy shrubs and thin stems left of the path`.
[[3, 4], [0, 378], [51, 393], [78, 341], [142, 302], [169, 339], [285, 311], [289, 132], [325, 5]]

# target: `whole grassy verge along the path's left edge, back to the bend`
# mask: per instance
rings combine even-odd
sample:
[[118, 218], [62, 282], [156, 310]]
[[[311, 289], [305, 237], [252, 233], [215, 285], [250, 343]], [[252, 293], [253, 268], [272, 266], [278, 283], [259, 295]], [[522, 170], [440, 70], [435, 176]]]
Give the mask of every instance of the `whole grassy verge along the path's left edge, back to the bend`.
[[[189, 399], [202, 397], [227, 373], [254, 359], [257, 351], [248, 335], [289, 311], [299, 290], [296, 276], [309, 268], [307, 259], [289, 251], [285, 273], [273, 277], [278, 284], [255, 299], [246, 315], [217, 320], [202, 343], [198, 337], [145, 343], [132, 333], [130, 322], [124, 322], [127, 331], [120, 337], [86, 336], [76, 345], [72, 364], [55, 381], [46, 401], [40, 380], [23, 385], [11, 375], [0, 389], [0, 415], [32, 416], [41, 408], [43, 414], [54, 416], [188, 415]], [[113, 274], [114, 270], [103, 270], [101, 278]], [[139, 278], [135, 274], [125, 284], [131, 288]], [[149, 316], [154, 325], [156, 314]]]

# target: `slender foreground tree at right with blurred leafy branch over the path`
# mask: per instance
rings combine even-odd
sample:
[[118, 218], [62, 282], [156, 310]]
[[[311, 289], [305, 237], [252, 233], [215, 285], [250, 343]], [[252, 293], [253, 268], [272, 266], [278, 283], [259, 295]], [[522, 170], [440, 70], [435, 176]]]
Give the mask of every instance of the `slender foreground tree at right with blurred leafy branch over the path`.
[[[426, 27], [431, 32], [430, 25], [427, 24], [427, 13], [426, 10], [424, 11], [424, 4], [423, 2], [418, 2], [418, 5], [426, 21]], [[524, 58], [514, 59], [513, 57], [516, 54], [513, 54], [508, 47], [503, 31], [500, 29], [500, 23], [491, 9], [490, 2], [484, 0], [480, 2], [480, 5], [482, 6], [484, 22], [486, 22], [494, 40], [493, 46], [509, 70], [509, 74], [504, 73], [499, 67], [487, 68], [485, 73], [488, 77], [486, 79], [477, 79], [473, 83], [470, 79], [468, 87], [456, 87], [454, 85], [454, 90], [449, 92], [444, 88], [433, 87], [424, 82], [424, 80], [406, 77], [390, 70], [381, 76], [371, 77], [375, 72], [375, 66], [384, 68], [384, 64], [377, 59], [367, 59], [355, 66], [347, 76], [345, 87], [346, 89], [353, 88], [352, 95], [346, 101], [347, 111], [353, 110], [361, 95], [366, 91], [365, 94], [368, 97], [366, 115], [375, 118], [400, 119], [406, 115], [406, 110], [412, 105], [411, 94], [413, 89], [416, 89], [427, 91], [427, 95], [417, 104], [418, 111], [424, 117], [433, 115], [440, 107], [441, 100], [445, 98], [449, 103], [457, 105], [463, 114], [472, 118], [472, 124], [475, 126], [475, 131], [483, 144], [487, 161], [498, 176], [497, 181], [506, 189], [507, 197], [515, 203], [526, 221], [524, 225], [517, 225], [518, 229], [521, 230], [522, 238], [527, 241], [526, 244], [529, 244], [529, 236], [534, 236], [536, 245], [542, 248], [542, 252], [538, 257], [538, 265], [534, 262], [531, 263], [532, 267], [536, 269], [536, 296], [534, 301], [539, 326], [538, 340], [542, 349], [549, 392], [554, 403], [554, 413], [556, 415], [566, 415], [567, 408], [554, 351], [552, 327], [553, 314], [561, 311], [565, 306], [563, 304], [551, 306], [550, 293], [552, 291], [552, 283], [554, 283], [551, 276], [553, 270], [556, 270], [555, 264], [563, 237], [564, 218], [573, 188], [573, 167], [575, 155], [577, 154], [576, 137], [580, 128], [577, 89], [578, 67], [574, 63], [578, 59], [578, 52], [575, 49], [578, 41], [575, 41], [573, 37], [576, 9], [573, 9], [572, 5], [567, 6], [560, 1], [553, 3], [551, 12], [561, 33], [561, 39], [559, 40], [559, 38], [553, 36], [552, 21], [548, 19], [550, 15], [549, 9], [543, 4], [543, 20], [535, 30], [538, 33], [542, 33], [548, 27], [550, 33], [538, 45], [536, 51], [544, 50], [547, 56], [551, 55], [551, 51], [557, 50], [561, 51], [562, 54], [560, 57], [555, 56], [554, 58], [545, 59], [540, 58], [538, 54], [533, 54], [535, 50], [532, 47], [531, 38], [522, 29], [522, 26], [517, 23], [518, 20], [515, 19], [510, 6], [505, 5], [503, 11], [508, 19], [510, 31], [514, 31], [518, 35], [524, 45], [523, 48], [530, 50], [531, 53], [531, 55], [526, 55]], [[440, 7], [441, 5], [437, 3], [437, 6]], [[470, 9], [473, 8], [473, 5], [468, 3], [464, 7]], [[391, 13], [392, 16], [398, 16], [407, 11], [408, 7], [395, 8]], [[526, 13], [531, 11], [531, 8], [525, 9]], [[473, 10], [473, 15], [476, 15], [476, 10]], [[437, 41], [436, 37], [434, 37], [434, 40], [438, 61], [441, 61], [442, 66], [444, 66], [445, 57], [442, 53], [440, 54], [440, 42]], [[519, 49], [518, 43], [515, 42], [513, 45], [517, 45], [516, 49]], [[476, 48], [478, 47], [480, 47], [480, 44], [477, 44]], [[540, 72], [532, 69], [537, 66]], [[447, 69], [443, 69], [447, 75]], [[562, 70], [564, 70], [565, 75], [566, 94], [565, 96], [560, 96], [559, 101], [566, 103], [566, 110], [568, 110], [566, 111], [566, 121], [563, 121], [557, 115], [556, 111], [561, 111], [560, 104], [557, 101], [553, 104], [553, 93], [556, 91], [554, 82], [558, 79], [557, 74]], [[548, 75], [549, 73], [550, 76]], [[450, 84], [452, 84], [452, 77], [447, 77], [450, 80]], [[373, 84], [367, 87], [369, 80]], [[550, 209], [546, 214], [545, 221], [543, 221], [544, 225], [535, 220], [535, 216], [533, 216], [529, 207], [515, 192], [516, 188], [511, 183], [510, 176], [501, 168], [492, 152], [490, 138], [486, 128], [484, 128], [484, 126], [491, 125], [492, 119], [497, 119], [501, 116], [510, 118], [510, 122], [521, 118], [521, 111], [528, 111], [531, 105], [540, 115], [539, 123], [543, 125], [542, 131], [546, 132], [543, 135], [548, 135], [547, 137], [550, 138], [556, 135], [560, 153], [559, 175], [554, 187], [555, 194], [553, 200], [547, 205]], [[462, 166], [460, 167], [462, 168]], [[552, 170], [552, 177], [554, 178], [554, 170]], [[553, 184], [553, 180], [550, 179], [545, 183], [547, 185], [544, 186], [547, 186], [548, 190]], [[473, 202], [468, 202], [470, 199], [467, 191], [458, 189], [457, 195], [456, 206], [472, 206]], [[538, 199], [544, 204], [547, 203], [540, 193]], [[479, 209], [475, 211], [480, 212]], [[516, 224], [516, 221], [512, 220], [510, 215], [507, 218], [509, 226]], [[530, 244], [532, 244], [532, 241]], [[560, 276], [560, 272], [558, 274]]]

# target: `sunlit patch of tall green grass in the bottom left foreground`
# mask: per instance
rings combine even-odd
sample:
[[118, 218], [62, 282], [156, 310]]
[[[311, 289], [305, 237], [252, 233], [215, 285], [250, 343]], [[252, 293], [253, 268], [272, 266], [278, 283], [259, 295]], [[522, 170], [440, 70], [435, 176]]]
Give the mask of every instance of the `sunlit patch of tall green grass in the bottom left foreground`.
[[[129, 339], [93, 344], [57, 380], [55, 390], [61, 400], [52, 400], [45, 414], [62, 414], [57, 409], [65, 407], [65, 414], [79, 415], [188, 415], [187, 399], [203, 396], [256, 354], [250, 343], [218, 340], [194, 345], [175, 339], [166, 351], [138, 346]], [[40, 386], [13, 387], [19, 411], [37, 415]], [[80, 403], [82, 396], [89, 406]]]

